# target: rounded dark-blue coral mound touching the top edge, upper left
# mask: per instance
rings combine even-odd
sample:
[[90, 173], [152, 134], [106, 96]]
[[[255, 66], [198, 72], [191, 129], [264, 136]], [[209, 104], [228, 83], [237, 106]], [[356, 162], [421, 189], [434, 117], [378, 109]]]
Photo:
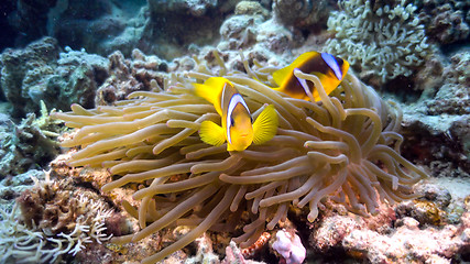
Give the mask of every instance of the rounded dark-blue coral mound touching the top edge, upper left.
[[50, 10], [47, 32], [61, 45], [86, 48], [106, 56], [127, 45], [124, 52], [142, 40], [147, 21], [145, 1], [57, 1]]

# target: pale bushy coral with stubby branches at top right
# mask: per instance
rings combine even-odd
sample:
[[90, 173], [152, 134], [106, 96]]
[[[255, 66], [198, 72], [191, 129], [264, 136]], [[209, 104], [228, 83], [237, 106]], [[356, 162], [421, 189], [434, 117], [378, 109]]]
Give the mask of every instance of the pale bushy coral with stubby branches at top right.
[[[336, 37], [326, 50], [349, 61], [362, 73], [382, 82], [409, 76], [430, 51], [416, 7], [402, 1], [339, 1], [341, 11], [331, 12], [328, 29]], [[391, 4], [386, 4], [391, 3]]]

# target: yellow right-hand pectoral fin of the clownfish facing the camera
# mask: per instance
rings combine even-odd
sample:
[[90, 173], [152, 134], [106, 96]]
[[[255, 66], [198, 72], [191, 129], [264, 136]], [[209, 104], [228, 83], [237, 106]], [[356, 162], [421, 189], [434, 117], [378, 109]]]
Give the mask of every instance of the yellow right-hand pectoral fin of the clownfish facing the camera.
[[278, 118], [273, 105], [267, 106], [253, 123], [253, 143], [255, 145], [270, 141], [277, 133]]

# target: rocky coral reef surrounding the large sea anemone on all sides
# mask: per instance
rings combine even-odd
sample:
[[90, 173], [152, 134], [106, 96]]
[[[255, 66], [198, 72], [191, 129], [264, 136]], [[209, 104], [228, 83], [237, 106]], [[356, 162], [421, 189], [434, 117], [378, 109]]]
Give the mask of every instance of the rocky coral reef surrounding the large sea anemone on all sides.
[[7, 0], [0, 9], [0, 263], [140, 263], [189, 232], [111, 243], [139, 230], [121, 204], [136, 206], [139, 187], [103, 193], [107, 169], [68, 166], [77, 148], [58, 142], [75, 132], [48, 114], [114, 106], [199, 65], [221, 73], [214, 51], [242, 73], [240, 51], [251, 67], [284, 67], [309, 51], [348, 61], [402, 109], [401, 154], [429, 177], [414, 186], [416, 199], [381, 204], [374, 217], [328, 200], [308, 222], [292, 206], [250, 253], [230, 243], [240, 231], [209, 231], [163, 263], [470, 262], [468, 1]]

